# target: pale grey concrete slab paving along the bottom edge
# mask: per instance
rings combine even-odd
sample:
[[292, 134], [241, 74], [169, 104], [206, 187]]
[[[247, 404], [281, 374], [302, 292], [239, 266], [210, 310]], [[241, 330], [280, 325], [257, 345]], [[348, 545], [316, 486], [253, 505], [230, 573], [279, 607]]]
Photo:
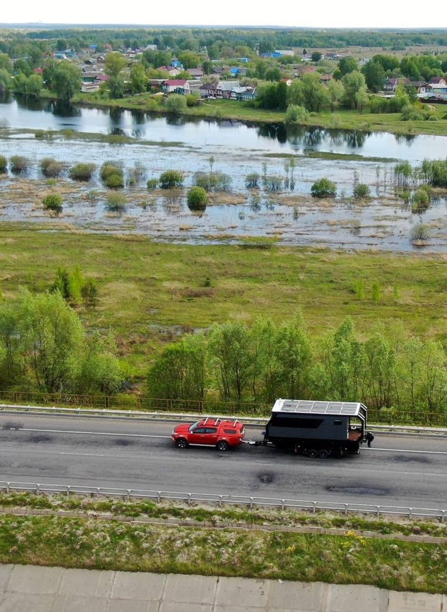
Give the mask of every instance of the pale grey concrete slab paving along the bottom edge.
[[0, 565], [0, 612], [442, 612], [446, 595], [302, 583]]

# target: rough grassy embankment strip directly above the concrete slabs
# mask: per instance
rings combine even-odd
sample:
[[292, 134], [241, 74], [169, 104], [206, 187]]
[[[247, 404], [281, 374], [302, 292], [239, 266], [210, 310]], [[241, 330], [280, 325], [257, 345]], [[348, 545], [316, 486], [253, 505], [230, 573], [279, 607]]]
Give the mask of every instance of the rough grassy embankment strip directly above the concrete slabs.
[[321, 580], [446, 592], [440, 545], [356, 535], [166, 528], [118, 521], [0, 517], [0, 562]]

